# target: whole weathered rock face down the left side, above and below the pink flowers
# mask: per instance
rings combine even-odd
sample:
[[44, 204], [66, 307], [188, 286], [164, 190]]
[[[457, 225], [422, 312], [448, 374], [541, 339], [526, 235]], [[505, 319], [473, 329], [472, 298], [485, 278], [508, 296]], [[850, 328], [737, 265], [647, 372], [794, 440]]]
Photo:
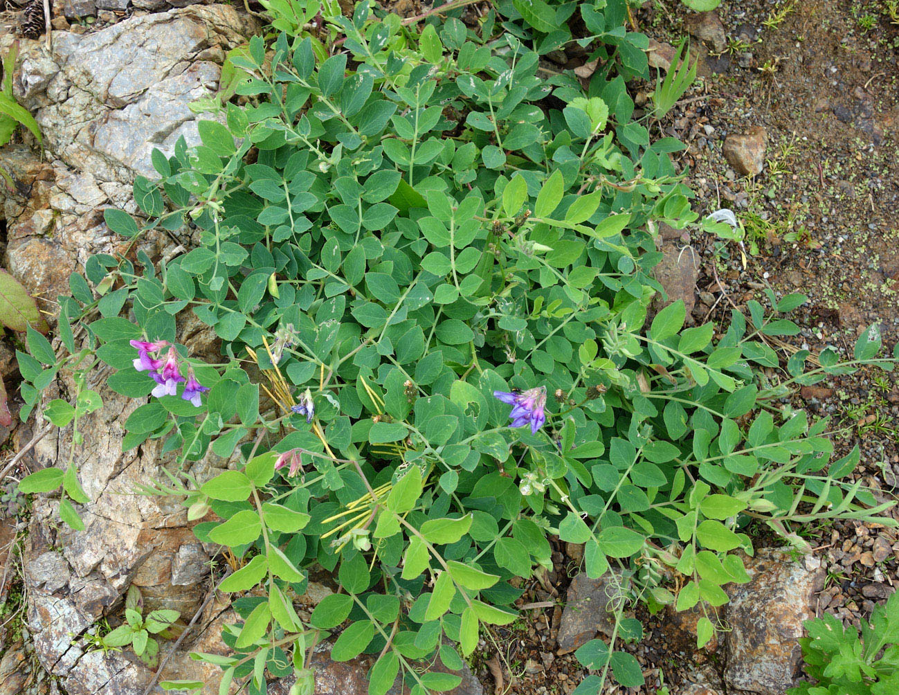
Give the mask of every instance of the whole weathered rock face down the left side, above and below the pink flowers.
[[[76, 0], [69, 9], [89, 11]], [[13, 183], [0, 191], [4, 261], [49, 317], [57, 295], [68, 294], [69, 273], [80, 271], [93, 254], [133, 259], [140, 250], [159, 258], [174, 248], [171, 239], [153, 232], [137, 245], [129, 243], [106, 227], [103, 209], [137, 212], [130, 184], [137, 174], [154, 175], [152, 149], [170, 152], [181, 137], [198, 141], [201, 116], [190, 104], [217, 89], [225, 52], [245, 43], [255, 29], [248, 22], [231, 6], [202, 5], [130, 18], [83, 35], [54, 31], [50, 49], [44, 41], [22, 43], [13, 88], [40, 124], [46, 156], [24, 146], [0, 152], [0, 166]], [[0, 37], [0, 52], [11, 40]], [[205, 326], [179, 320], [183, 342], [196, 347], [198, 356], [218, 354], [218, 339]], [[57, 501], [37, 499], [22, 557], [35, 653], [73, 694], [140, 693], [152, 677], [133, 655], [91, 652], [81, 639], [98, 619], [116, 619], [129, 584], [140, 588], [146, 610], [170, 608], [185, 619], [208, 588], [208, 548], [193, 535], [196, 521], [187, 521], [173, 497], [135, 495], [139, 485], [161, 477], [161, 467], [172, 459], [152, 440], [122, 453], [125, 423], [143, 401], [113, 393], [105, 387], [108, 376], [96, 372], [86, 385], [102, 396], [104, 406], [79, 420], [84, 443], [72, 446], [71, 426], [54, 428], [28, 456], [32, 469], [65, 468], [71, 459], [90, 498], [78, 506], [83, 531], [58, 521]], [[74, 384], [61, 376], [46, 397], [73, 393]], [[40, 410], [32, 430], [44, 426]], [[20, 429], [22, 437], [30, 436], [28, 428]], [[205, 479], [222, 465], [210, 455], [191, 473]], [[202, 627], [218, 613], [198, 623], [182, 648], [206, 639]], [[215, 632], [218, 638], [218, 628]], [[208, 670], [179, 651], [164, 677], [203, 675], [211, 682], [214, 674]], [[216, 691], [217, 685], [209, 690]]]

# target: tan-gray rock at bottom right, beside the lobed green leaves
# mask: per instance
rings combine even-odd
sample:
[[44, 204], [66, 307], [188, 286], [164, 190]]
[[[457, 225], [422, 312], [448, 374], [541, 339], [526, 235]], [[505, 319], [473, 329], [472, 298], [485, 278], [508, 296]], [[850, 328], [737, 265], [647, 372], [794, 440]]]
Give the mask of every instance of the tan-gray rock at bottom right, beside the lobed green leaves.
[[802, 664], [798, 638], [815, 616], [822, 570], [809, 571], [787, 552], [761, 549], [746, 565], [748, 584], [734, 586], [726, 607], [725, 682], [729, 692], [783, 695]]

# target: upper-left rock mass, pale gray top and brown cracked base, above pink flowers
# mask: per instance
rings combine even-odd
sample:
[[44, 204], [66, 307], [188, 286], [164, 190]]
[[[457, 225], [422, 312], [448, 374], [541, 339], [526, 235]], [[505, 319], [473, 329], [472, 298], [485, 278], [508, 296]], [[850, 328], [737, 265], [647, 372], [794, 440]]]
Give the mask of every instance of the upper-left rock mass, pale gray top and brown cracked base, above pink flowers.
[[[82, 12], [88, 5], [71, 7]], [[136, 174], [156, 176], [153, 149], [172, 154], [182, 136], [199, 142], [201, 116], [189, 104], [218, 88], [225, 53], [245, 43], [253, 22], [231, 6], [197, 5], [84, 35], [54, 31], [52, 51], [43, 41], [22, 44], [13, 91], [38, 121], [48, 156], [42, 161], [21, 146], [0, 152], [15, 189], [8, 195], [0, 187], [4, 261], [39, 298], [51, 325], [51, 303], [68, 293], [69, 273], [93, 254], [120, 253], [102, 206], [136, 212], [130, 183]], [[14, 39], [0, 35], [0, 54]], [[169, 242], [151, 234], [147, 244], [155, 256]]]

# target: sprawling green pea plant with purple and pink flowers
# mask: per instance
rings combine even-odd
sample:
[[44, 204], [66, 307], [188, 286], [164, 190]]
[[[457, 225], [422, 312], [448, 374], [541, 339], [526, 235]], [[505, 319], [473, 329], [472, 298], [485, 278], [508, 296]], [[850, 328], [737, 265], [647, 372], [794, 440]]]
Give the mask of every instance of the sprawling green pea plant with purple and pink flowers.
[[[579, 7], [627, 34], [622, 2]], [[370, 656], [372, 695], [396, 678], [452, 689], [558, 540], [618, 587], [613, 637], [578, 652], [595, 672], [578, 695], [636, 687], [632, 601], [724, 603], [749, 579], [753, 522], [800, 545], [799, 524], [877, 517], [841, 481], [858, 450], [830, 462], [827, 421], [781, 400], [888, 367], [876, 329], [804, 372], [807, 352], [781, 368], [766, 342], [797, 333], [800, 295], [750, 302], [725, 331], [688, 325], [682, 301], [656, 310], [657, 226], [701, 222], [672, 166], [681, 143], [632, 118], [620, 51], [585, 93], [494, 15], [473, 30], [320, 10], [327, 41], [281, 31], [232, 58], [240, 102], [200, 122], [200, 144], [154, 153], [158, 179], [134, 183], [146, 219], [106, 211], [136, 254], [93, 256], [59, 298], [58, 353], [31, 331], [19, 355], [25, 414], [75, 375], [41, 408], [79, 441], [102, 407], [87, 372], [115, 370], [102, 390], [132, 399], [123, 449], [162, 442], [142, 492], [180, 497], [234, 558], [217, 584], [240, 616], [234, 653], [197, 656], [223, 691], [292, 676], [312, 693], [325, 639], [336, 661]], [[149, 257], [139, 241], [160, 234], [189, 250]], [[217, 362], [191, 353], [185, 315]], [[77, 528], [68, 456], [22, 489], [61, 487]], [[311, 569], [339, 591], [301, 619]]]

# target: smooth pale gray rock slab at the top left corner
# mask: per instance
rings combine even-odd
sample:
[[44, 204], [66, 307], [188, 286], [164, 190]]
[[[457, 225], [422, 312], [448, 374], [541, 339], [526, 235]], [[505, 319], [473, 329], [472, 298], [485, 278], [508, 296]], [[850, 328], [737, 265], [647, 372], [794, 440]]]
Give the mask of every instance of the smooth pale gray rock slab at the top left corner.
[[14, 92], [67, 165], [103, 181], [153, 176], [154, 147], [171, 153], [178, 138], [199, 142], [203, 116], [190, 104], [214, 94], [225, 53], [245, 42], [251, 22], [211, 4], [87, 34], [55, 31], [52, 52], [42, 41], [23, 46]]

